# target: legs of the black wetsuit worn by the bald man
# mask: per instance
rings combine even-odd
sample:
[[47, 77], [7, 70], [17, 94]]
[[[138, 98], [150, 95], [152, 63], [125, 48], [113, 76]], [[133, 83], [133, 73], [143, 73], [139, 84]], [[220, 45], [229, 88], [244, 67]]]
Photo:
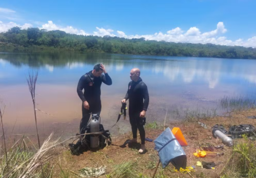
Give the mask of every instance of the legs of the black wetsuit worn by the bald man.
[[130, 117], [130, 123], [132, 126], [133, 138], [137, 138], [137, 128], [139, 129], [141, 144], [145, 144], [145, 129], [143, 124], [141, 124], [142, 118], [140, 118], [140, 113], [133, 113]]

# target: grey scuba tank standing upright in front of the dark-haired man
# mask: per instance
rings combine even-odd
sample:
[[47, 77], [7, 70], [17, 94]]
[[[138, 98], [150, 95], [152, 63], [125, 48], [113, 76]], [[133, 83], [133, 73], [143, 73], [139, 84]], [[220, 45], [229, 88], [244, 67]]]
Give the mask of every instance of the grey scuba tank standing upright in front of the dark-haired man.
[[[99, 132], [99, 116], [96, 114], [92, 115], [92, 120], [90, 122], [90, 132]], [[99, 147], [99, 135], [91, 135], [90, 137], [90, 147], [91, 149], [97, 149]]]

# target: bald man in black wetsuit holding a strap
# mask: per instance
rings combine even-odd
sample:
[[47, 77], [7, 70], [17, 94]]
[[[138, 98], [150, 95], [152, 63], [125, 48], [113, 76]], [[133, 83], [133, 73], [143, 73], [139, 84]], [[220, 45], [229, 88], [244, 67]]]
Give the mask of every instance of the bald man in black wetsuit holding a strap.
[[[128, 85], [128, 91], [121, 101], [126, 102], [129, 99], [129, 117], [133, 131], [133, 139], [130, 141], [137, 142], [137, 128], [140, 132], [141, 147], [139, 152], [142, 153], [145, 150], [145, 115], [150, 97], [148, 96], [147, 86], [140, 78], [140, 70], [134, 68], [130, 72], [131, 82]], [[143, 101], [144, 99], [144, 101]]]

